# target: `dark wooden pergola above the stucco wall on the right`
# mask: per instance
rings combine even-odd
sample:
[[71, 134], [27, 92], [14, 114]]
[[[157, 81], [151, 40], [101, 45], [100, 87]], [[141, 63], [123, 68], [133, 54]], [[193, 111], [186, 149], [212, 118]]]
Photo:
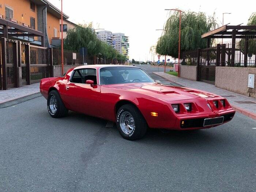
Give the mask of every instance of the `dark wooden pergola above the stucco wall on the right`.
[[[245, 39], [245, 64], [247, 64], [248, 55], [248, 39], [256, 38], [256, 26], [242, 26], [242, 25], [224, 25], [218, 29], [209, 31], [201, 35], [202, 38], [207, 38], [207, 48], [210, 48], [211, 39], [232, 39], [231, 41], [231, 66], [234, 66], [235, 51], [236, 51], [236, 39]], [[256, 53], [255, 53], [256, 54]]]

